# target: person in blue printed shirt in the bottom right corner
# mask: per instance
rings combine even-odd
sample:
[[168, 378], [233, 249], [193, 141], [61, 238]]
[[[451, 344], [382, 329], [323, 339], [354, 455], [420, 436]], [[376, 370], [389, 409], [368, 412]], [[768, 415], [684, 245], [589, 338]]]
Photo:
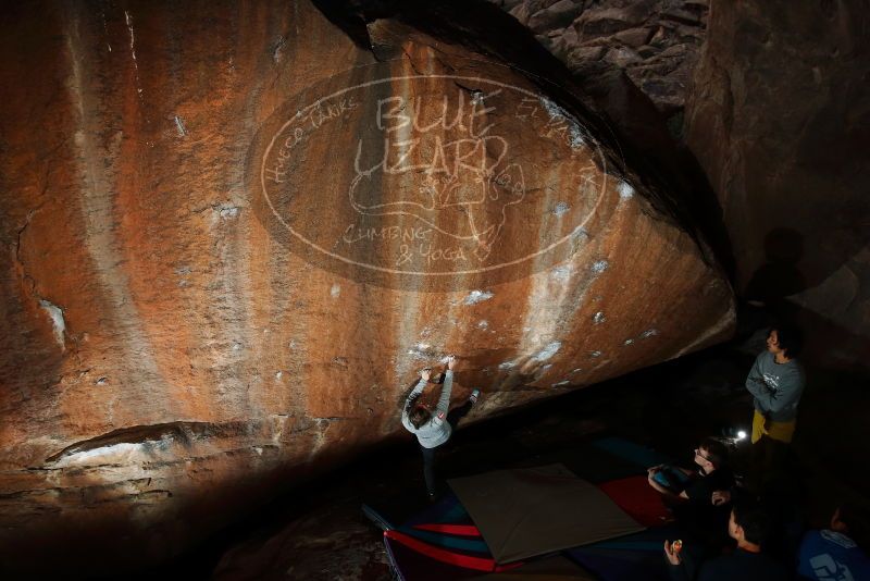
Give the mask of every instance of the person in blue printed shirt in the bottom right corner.
[[797, 573], [812, 581], [858, 581], [870, 579], [870, 558], [849, 537], [854, 514], [841, 506], [831, 517], [831, 528], [809, 531], [798, 553]]

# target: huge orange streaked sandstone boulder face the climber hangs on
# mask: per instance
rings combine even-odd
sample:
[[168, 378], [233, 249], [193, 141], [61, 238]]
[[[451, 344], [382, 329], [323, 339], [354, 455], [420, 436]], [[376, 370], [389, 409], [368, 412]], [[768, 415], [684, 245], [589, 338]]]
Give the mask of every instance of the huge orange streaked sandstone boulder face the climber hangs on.
[[730, 333], [703, 242], [547, 83], [304, 2], [195, 12], [4, 24], [5, 563], [177, 554], [401, 434], [450, 353], [480, 420]]

